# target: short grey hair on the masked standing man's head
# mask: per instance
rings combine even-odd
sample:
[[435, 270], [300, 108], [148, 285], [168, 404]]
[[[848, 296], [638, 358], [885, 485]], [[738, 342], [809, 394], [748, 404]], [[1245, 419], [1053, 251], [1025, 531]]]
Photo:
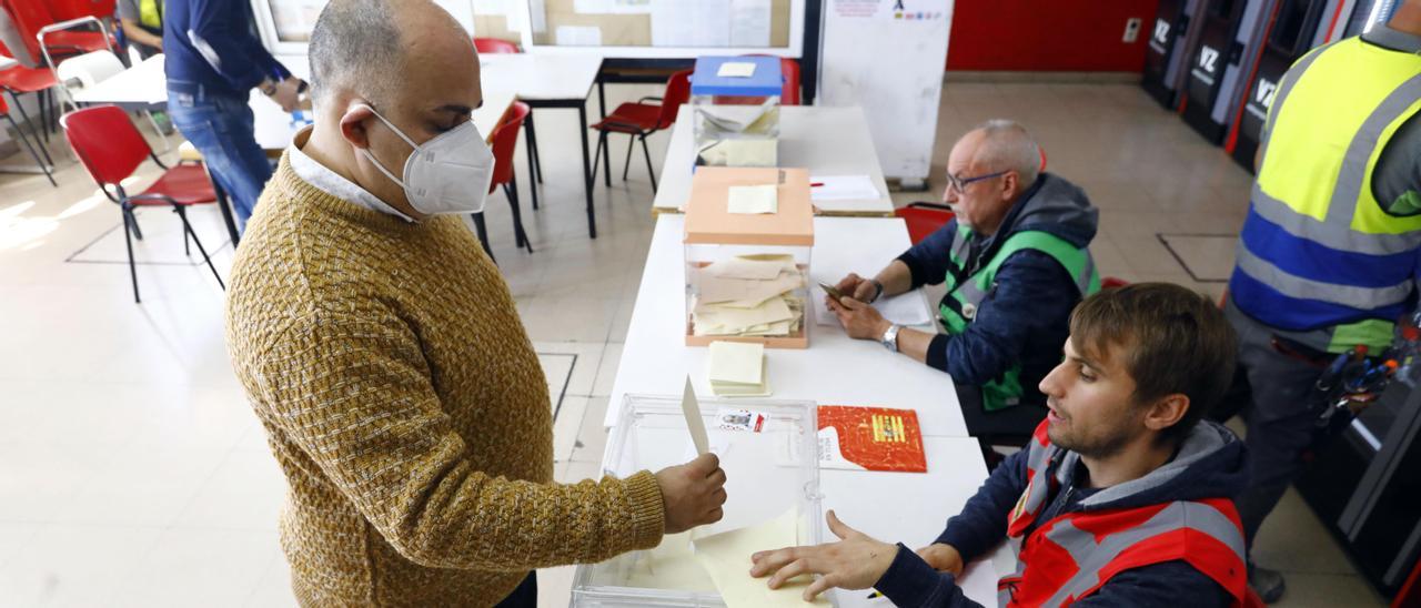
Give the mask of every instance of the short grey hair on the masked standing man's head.
[[317, 102], [351, 87], [381, 104], [404, 68], [395, 11], [388, 0], [333, 0], [315, 20], [308, 54]]

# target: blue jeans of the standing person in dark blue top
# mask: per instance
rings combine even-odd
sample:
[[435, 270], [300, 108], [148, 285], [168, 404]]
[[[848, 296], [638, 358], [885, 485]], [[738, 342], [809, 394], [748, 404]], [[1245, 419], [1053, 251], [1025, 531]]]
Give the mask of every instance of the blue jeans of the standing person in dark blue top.
[[212, 94], [190, 82], [168, 84], [173, 126], [202, 153], [212, 178], [232, 199], [237, 230], [244, 230], [261, 188], [271, 179], [271, 162], [253, 135], [247, 99]]

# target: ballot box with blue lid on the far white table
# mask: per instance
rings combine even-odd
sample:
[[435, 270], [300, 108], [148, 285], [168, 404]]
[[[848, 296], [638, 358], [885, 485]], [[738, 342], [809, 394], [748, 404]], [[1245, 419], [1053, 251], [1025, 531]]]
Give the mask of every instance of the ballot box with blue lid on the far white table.
[[696, 165], [779, 163], [779, 57], [701, 57], [691, 75]]

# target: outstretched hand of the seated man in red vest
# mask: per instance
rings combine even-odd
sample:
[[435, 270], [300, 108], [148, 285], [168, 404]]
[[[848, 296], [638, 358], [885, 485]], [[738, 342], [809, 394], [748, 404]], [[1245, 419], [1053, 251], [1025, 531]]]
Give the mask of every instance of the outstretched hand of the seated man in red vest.
[[892, 565], [898, 547], [845, 526], [838, 521], [833, 510], [826, 519], [828, 530], [841, 538], [838, 543], [756, 553], [750, 555], [750, 561], [755, 563], [750, 575], [755, 578], [769, 575], [770, 588], [777, 590], [790, 578], [818, 574], [820, 577], [804, 590], [804, 601], [813, 601], [834, 587], [867, 590], [878, 582]]

